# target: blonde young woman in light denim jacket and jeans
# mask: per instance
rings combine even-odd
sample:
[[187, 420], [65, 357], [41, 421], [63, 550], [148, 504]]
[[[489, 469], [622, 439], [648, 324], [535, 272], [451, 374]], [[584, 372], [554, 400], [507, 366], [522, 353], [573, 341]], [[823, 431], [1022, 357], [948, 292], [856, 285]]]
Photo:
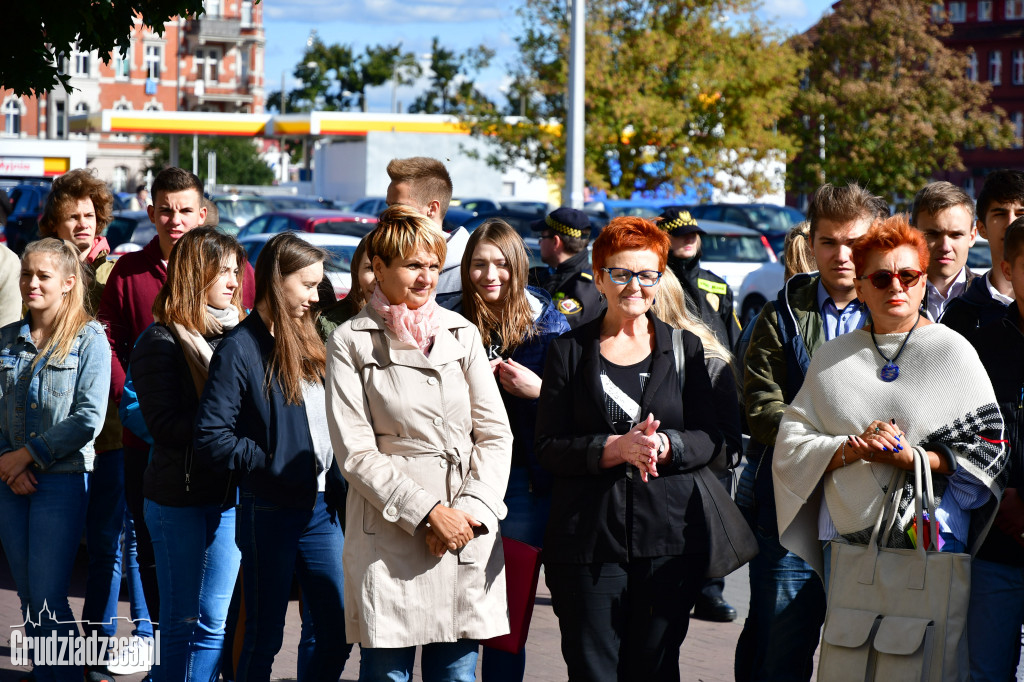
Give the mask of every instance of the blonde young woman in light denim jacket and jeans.
[[[68, 586], [106, 411], [111, 348], [85, 309], [74, 247], [29, 244], [20, 289], [28, 313], [0, 329], [0, 542], [26, 634], [75, 637]], [[81, 666], [35, 669], [40, 682], [82, 676]]]

